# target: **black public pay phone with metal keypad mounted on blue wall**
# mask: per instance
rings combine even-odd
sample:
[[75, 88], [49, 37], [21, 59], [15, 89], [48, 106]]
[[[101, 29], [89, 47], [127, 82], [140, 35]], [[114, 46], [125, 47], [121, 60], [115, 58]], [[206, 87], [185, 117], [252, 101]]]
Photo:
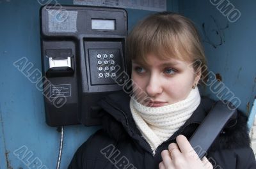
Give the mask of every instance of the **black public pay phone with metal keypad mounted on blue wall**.
[[125, 82], [126, 11], [43, 6], [40, 31], [47, 124], [100, 124], [97, 101]]

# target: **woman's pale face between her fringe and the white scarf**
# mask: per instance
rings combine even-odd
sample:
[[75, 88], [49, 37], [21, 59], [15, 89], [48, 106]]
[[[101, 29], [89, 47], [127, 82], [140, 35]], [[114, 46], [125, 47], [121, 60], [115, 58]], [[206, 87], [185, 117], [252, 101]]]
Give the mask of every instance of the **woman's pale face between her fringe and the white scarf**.
[[148, 54], [147, 64], [132, 61], [132, 88], [137, 98], [140, 97], [141, 91], [147, 94], [147, 97], [140, 101], [143, 105], [163, 107], [186, 99], [193, 84], [197, 84], [200, 79], [200, 72], [197, 74], [191, 62], [178, 59], [162, 60], [158, 59], [157, 55]]

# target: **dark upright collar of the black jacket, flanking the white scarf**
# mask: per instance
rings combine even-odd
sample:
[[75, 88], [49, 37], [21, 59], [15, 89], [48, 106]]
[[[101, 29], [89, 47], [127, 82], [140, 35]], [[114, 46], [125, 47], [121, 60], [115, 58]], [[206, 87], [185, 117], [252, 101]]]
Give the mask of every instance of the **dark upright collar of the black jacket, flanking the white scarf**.
[[[124, 126], [125, 131], [128, 133], [131, 138], [138, 142], [141, 147], [143, 147], [148, 152], [152, 153], [150, 147], [145, 139], [142, 138], [140, 131], [136, 128], [136, 124], [132, 118], [131, 110], [129, 107], [130, 101], [129, 94], [126, 94], [124, 91], [114, 92], [109, 94], [106, 98], [102, 99], [99, 102], [100, 107], [102, 107], [109, 115], [114, 117], [114, 119]], [[182, 134], [186, 126], [191, 124], [200, 124], [207, 112], [211, 109], [214, 101], [208, 98], [202, 98], [200, 105], [196, 108], [195, 112], [189, 117], [188, 121], [176, 131], [168, 140], [174, 139], [177, 135]], [[112, 121], [113, 122], [113, 121]], [[107, 129], [109, 131], [111, 129]], [[111, 135], [116, 135], [115, 132], [109, 133]]]

